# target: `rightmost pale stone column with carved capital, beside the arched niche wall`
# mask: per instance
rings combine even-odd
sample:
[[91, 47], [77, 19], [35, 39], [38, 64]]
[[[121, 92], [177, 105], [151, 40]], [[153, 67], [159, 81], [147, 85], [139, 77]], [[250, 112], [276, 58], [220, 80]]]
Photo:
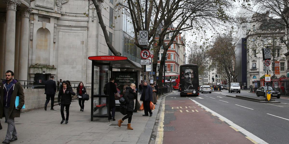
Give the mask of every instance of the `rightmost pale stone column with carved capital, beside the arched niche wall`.
[[[28, 76], [28, 52], [29, 52], [29, 17], [30, 8], [22, 8], [21, 12], [21, 27], [20, 27], [20, 43], [19, 43], [19, 80], [27, 80]], [[21, 83], [22, 84], [22, 83]], [[24, 83], [23, 83], [24, 84]]]

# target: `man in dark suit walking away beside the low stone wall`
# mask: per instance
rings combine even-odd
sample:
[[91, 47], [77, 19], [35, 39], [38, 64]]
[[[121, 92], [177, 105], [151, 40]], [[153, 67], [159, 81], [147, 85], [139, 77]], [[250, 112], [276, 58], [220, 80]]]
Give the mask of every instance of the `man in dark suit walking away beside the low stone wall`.
[[50, 110], [54, 110], [53, 106], [54, 106], [54, 96], [55, 96], [55, 92], [56, 92], [56, 82], [53, 79], [54, 79], [54, 76], [50, 75], [50, 79], [45, 82], [45, 93], [44, 93], [44, 94], [46, 94], [46, 102], [45, 102], [45, 106], [44, 106], [45, 111], [47, 109], [47, 104], [49, 103], [50, 98], [51, 98], [51, 109]]

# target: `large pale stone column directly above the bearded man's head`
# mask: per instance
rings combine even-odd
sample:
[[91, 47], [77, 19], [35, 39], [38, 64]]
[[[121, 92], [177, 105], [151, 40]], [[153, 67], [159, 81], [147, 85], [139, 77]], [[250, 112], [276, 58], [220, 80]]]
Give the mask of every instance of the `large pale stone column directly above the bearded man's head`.
[[[15, 58], [15, 25], [16, 25], [16, 7], [21, 2], [17, 0], [5, 0], [6, 3], [6, 26], [5, 26], [5, 46], [4, 46], [4, 66], [3, 71], [14, 71]], [[5, 73], [3, 73], [5, 76]]]

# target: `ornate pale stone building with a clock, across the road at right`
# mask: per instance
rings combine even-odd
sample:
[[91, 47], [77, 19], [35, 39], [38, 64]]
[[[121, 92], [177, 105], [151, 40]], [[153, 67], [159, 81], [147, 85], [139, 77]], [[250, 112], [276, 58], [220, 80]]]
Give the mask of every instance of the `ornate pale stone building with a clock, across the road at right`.
[[[271, 25], [269, 25], [270, 23]], [[257, 14], [252, 16], [250, 30], [246, 37], [248, 84], [253, 84], [255, 80], [260, 80], [260, 77], [267, 73], [262, 56], [263, 48], [271, 49], [271, 65], [268, 74], [271, 74], [272, 78], [286, 77], [287, 63], [284, 54], [287, 52], [287, 48], [281, 40], [285, 35], [284, 30], [279, 26], [272, 25], [270, 20], [264, 19]], [[274, 60], [273, 55], [275, 57]], [[280, 64], [280, 74], [273, 72], [273, 65], [277, 62]]]

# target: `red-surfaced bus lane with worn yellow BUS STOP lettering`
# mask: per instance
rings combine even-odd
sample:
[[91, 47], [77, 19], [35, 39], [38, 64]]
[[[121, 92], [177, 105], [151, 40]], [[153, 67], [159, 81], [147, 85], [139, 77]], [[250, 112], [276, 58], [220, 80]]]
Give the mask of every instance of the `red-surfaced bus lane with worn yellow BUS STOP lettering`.
[[163, 129], [164, 144], [253, 143], [236, 128], [188, 98], [166, 98]]

